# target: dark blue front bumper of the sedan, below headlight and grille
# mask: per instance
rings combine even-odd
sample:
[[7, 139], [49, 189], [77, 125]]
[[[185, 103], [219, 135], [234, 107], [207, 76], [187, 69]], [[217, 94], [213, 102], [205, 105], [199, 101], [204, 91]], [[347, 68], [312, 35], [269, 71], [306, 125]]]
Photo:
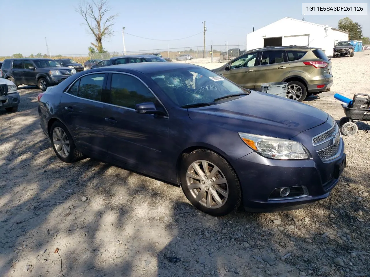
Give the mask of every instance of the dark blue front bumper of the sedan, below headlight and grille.
[[[322, 124], [324, 125], [324, 124]], [[326, 127], [312, 130], [320, 134]], [[308, 131], [311, 135], [311, 131]], [[303, 132], [305, 133], [305, 132]], [[301, 136], [301, 135], [299, 135]], [[312, 145], [312, 137], [310, 142]], [[295, 139], [302, 143], [298, 138]], [[308, 140], [307, 140], [308, 141]], [[305, 146], [308, 143], [303, 143]], [[242, 188], [243, 206], [250, 212], [279, 212], [299, 209], [307, 204], [329, 196], [338, 183], [345, 167], [346, 154], [340, 138], [340, 148], [332, 160], [322, 161], [314, 150], [307, 147], [311, 157], [307, 160], [273, 160], [256, 152], [236, 160], [234, 166]], [[342, 166], [340, 169], [339, 167]], [[280, 188], [303, 188], [302, 195], [275, 197], [273, 192]]]

